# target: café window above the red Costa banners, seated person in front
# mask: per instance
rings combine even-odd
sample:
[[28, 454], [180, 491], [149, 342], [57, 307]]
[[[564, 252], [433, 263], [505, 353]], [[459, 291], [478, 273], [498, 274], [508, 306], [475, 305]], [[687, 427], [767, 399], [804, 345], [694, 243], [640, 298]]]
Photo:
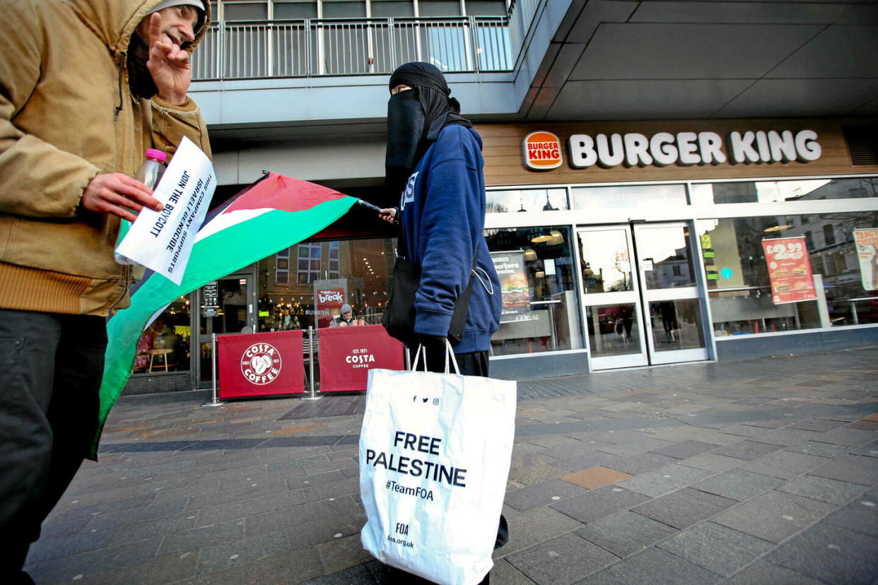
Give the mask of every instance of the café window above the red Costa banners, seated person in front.
[[392, 239], [310, 242], [291, 249], [298, 249], [294, 257], [306, 267], [296, 282], [277, 277], [275, 257], [259, 262], [259, 331], [325, 327], [343, 303], [351, 305], [358, 322], [381, 323], [393, 273]]

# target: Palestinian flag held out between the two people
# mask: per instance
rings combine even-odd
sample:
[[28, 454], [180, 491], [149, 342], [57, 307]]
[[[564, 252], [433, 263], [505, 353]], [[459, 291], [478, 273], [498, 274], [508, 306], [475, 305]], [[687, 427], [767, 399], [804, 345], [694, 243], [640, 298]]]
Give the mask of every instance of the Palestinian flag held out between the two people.
[[109, 343], [90, 458], [97, 460], [97, 444], [107, 415], [131, 375], [140, 333], [156, 313], [207, 282], [310, 238], [341, 218], [356, 201], [356, 197], [311, 182], [267, 173], [212, 210], [198, 230], [180, 285], [148, 272], [133, 287], [131, 306], [107, 323]]

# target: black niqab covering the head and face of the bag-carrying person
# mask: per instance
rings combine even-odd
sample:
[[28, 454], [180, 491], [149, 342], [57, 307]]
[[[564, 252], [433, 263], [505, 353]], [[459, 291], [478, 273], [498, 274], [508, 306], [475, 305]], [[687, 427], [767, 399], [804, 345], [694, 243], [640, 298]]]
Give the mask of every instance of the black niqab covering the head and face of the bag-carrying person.
[[385, 184], [392, 192], [405, 187], [408, 175], [428, 146], [448, 125], [472, 127], [460, 115], [460, 103], [438, 68], [429, 63], [406, 63], [390, 77], [390, 89], [400, 84], [412, 88], [391, 96], [387, 103], [387, 153]]

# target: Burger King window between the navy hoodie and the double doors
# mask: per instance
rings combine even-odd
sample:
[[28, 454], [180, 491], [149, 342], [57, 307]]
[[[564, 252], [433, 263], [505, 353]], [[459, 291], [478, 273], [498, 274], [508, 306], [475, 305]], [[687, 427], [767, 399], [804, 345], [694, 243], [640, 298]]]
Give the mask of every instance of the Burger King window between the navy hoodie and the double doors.
[[581, 348], [570, 228], [550, 225], [486, 232], [503, 296], [492, 355]]

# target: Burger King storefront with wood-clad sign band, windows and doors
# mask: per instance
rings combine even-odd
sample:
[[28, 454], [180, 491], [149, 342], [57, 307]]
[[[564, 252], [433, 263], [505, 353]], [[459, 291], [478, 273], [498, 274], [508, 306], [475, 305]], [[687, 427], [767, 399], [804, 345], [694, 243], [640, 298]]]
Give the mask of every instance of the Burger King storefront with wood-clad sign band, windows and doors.
[[[533, 317], [549, 303], [570, 317], [548, 316], [541, 346], [501, 346], [494, 371], [564, 375], [878, 342], [871, 128], [792, 118], [480, 127], [488, 241], [523, 232], [515, 244], [531, 259]], [[870, 132], [871, 143], [861, 139]], [[519, 327], [501, 325], [495, 340]]]

